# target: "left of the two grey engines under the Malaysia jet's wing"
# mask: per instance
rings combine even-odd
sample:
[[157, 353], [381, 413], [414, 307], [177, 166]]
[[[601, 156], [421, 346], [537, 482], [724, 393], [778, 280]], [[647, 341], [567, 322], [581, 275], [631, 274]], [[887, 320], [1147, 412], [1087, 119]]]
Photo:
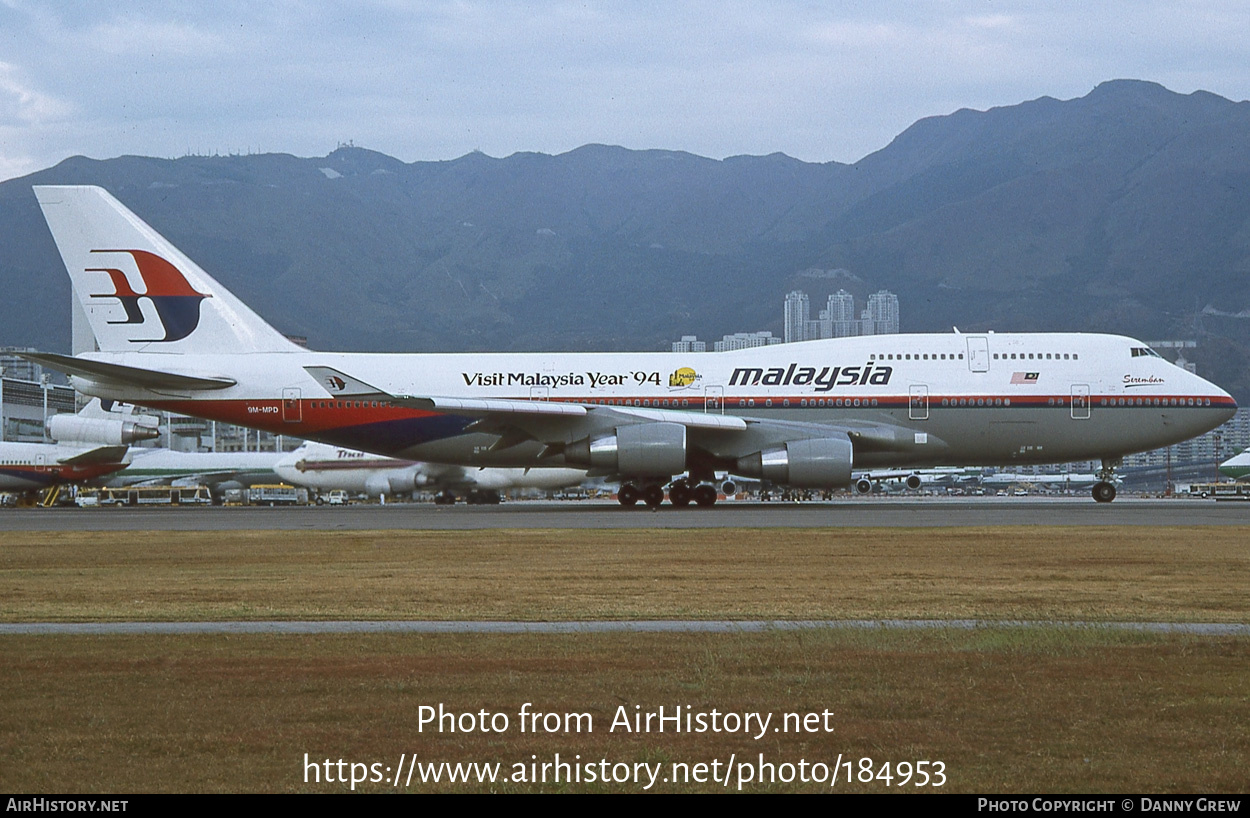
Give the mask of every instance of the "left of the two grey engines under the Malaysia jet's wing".
[[614, 434], [570, 443], [564, 459], [624, 477], [668, 478], [686, 470], [686, 428], [680, 423], [618, 427]]

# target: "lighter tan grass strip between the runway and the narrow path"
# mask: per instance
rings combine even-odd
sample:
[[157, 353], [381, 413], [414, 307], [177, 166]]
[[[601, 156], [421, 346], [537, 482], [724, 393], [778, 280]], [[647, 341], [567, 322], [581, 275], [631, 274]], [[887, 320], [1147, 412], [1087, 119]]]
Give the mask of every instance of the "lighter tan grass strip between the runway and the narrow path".
[[0, 620], [1250, 620], [1250, 528], [5, 534]]

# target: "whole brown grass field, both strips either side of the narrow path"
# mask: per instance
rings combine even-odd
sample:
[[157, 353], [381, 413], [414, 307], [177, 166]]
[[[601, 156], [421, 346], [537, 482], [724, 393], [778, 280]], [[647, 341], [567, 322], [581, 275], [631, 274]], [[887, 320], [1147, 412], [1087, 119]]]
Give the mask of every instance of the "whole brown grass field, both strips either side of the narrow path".
[[[0, 620], [982, 618], [1250, 622], [1235, 528], [6, 534]], [[608, 759], [664, 775], [941, 760], [946, 792], [1244, 792], [1250, 639], [1101, 628], [758, 634], [0, 637], [0, 788], [336, 792], [312, 762]], [[521, 733], [526, 703], [594, 732]], [[510, 717], [419, 729], [422, 705]], [[640, 710], [634, 710], [635, 705]], [[629, 712], [831, 713], [826, 732], [626, 733]], [[681, 768], [681, 764], [691, 767]], [[621, 768], [624, 769], [624, 768]], [[630, 767], [630, 769], [634, 769]], [[798, 768], [794, 768], [795, 770]], [[932, 769], [930, 767], [930, 769]], [[711, 768], [709, 768], [709, 772]], [[338, 769], [335, 770], [338, 774]], [[780, 768], [779, 775], [786, 769]], [[845, 770], [842, 770], [845, 773]], [[386, 773], [388, 780], [391, 773]], [[550, 775], [550, 772], [549, 772]], [[644, 770], [645, 775], [645, 770]], [[914, 775], [905, 789], [912, 789]], [[836, 790], [899, 789], [898, 775]], [[664, 782], [659, 790], [722, 790]], [[394, 789], [372, 782], [358, 789]], [[744, 789], [829, 789], [801, 782]]]

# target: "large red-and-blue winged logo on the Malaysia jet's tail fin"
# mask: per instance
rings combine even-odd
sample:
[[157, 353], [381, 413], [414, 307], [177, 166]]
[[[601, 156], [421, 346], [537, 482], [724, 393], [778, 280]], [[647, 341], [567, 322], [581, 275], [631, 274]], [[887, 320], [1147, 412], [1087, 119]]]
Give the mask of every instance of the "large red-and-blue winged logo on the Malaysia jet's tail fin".
[[200, 325], [200, 301], [211, 298], [211, 295], [198, 293], [176, 266], [148, 250], [91, 250], [91, 253], [125, 253], [130, 255], [139, 269], [139, 276], [144, 280], [144, 291], [136, 293], [130, 286], [130, 279], [121, 270], [108, 266], [86, 268], [88, 273], [106, 273], [112, 281], [112, 293], [92, 293], [91, 298], [115, 298], [121, 301], [122, 309], [126, 310], [125, 320], [109, 321], [110, 324], [148, 323], [139, 308], [139, 299], [146, 298], [151, 301], [156, 310], [156, 319], [165, 330], [165, 336], [131, 338], [131, 344], [182, 340]]

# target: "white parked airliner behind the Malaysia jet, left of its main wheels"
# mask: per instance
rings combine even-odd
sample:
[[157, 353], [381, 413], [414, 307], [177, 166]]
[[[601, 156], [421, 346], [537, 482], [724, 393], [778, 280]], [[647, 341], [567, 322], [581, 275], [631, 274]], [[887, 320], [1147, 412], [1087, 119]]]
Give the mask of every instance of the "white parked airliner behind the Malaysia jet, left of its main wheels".
[[471, 504], [499, 503], [502, 489], [562, 489], [586, 479], [584, 469], [498, 469], [414, 463], [356, 449], [305, 443], [275, 467], [286, 483], [318, 492], [341, 489], [385, 498], [412, 492], [438, 492], [435, 503], [451, 504], [462, 494]]

